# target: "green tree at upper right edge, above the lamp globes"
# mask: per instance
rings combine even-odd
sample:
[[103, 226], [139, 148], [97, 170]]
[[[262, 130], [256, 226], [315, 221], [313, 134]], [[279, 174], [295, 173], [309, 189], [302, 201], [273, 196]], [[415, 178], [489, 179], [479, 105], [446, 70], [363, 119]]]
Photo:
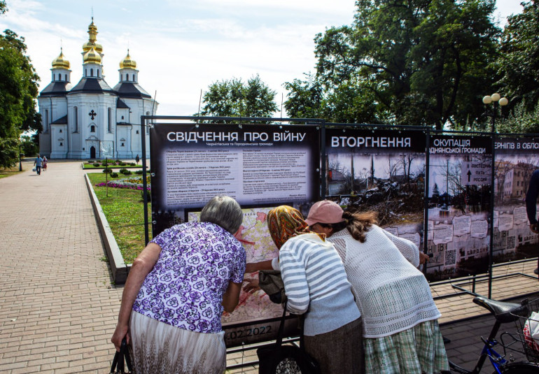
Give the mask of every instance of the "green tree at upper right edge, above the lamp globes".
[[496, 66], [510, 108], [524, 103], [533, 112], [539, 103], [539, 3], [521, 4], [522, 13], [507, 18]]

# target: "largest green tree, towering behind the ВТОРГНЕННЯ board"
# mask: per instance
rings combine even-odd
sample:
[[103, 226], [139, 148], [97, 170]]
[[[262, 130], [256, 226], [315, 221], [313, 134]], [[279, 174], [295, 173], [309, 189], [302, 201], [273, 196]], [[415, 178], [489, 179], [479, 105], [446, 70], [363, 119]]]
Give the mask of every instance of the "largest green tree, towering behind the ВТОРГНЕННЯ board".
[[493, 0], [356, 5], [353, 24], [315, 38], [318, 77], [330, 94], [344, 87], [341, 108], [355, 108], [352, 117], [363, 122], [437, 129], [484, 111], [477, 98], [492, 85], [485, 66], [495, 58], [500, 32], [490, 19]]

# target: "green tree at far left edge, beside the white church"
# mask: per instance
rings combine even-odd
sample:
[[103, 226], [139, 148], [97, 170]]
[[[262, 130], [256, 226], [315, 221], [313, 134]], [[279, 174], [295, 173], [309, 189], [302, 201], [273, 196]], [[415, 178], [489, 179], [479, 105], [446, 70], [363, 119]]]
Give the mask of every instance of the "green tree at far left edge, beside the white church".
[[39, 77], [26, 51], [25, 38], [11, 30], [0, 34], [0, 141], [4, 148], [0, 166], [4, 168], [18, 161], [22, 132], [41, 131], [41, 117], [35, 106]]

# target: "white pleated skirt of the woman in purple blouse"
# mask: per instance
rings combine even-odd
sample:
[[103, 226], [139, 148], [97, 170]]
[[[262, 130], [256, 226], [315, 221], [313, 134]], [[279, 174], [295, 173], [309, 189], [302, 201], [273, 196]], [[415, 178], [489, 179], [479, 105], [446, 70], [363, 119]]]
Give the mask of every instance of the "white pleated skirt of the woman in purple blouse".
[[197, 333], [131, 312], [131, 357], [133, 372], [224, 373], [225, 333]]

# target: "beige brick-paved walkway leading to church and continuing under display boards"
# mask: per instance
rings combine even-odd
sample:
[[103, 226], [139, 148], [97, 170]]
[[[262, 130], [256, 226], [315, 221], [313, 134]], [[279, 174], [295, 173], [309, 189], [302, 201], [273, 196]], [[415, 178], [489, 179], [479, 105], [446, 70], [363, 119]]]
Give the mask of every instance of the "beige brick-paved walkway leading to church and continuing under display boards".
[[[112, 285], [102, 240], [79, 161], [50, 161], [40, 176], [24, 173], [0, 179], [0, 373], [108, 373], [123, 287]], [[535, 264], [496, 268], [494, 275], [531, 274]], [[471, 289], [471, 285], [465, 288]], [[484, 284], [477, 292], [486, 294]], [[516, 275], [494, 282], [493, 298], [538, 292], [535, 279]], [[454, 293], [449, 285], [433, 294]], [[484, 313], [460, 295], [437, 300], [440, 322]], [[472, 366], [477, 333], [491, 318], [442, 325], [449, 357]], [[253, 351], [228, 355], [228, 363], [252, 361]], [[257, 373], [251, 366], [230, 373]], [[484, 370], [485, 373], [491, 372]]]

